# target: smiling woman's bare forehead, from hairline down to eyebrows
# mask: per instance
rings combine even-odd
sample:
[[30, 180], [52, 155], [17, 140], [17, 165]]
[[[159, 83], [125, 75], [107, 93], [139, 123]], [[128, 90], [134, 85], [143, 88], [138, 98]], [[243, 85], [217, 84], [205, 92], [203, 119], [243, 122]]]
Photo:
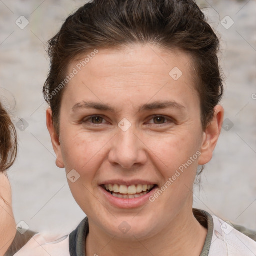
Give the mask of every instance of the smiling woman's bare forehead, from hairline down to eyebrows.
[[68, 82], [64, 96], [68, 95], [72, 102], [81, 101], [85, 91], [86, 95], [108, 102], [109, 97], [131, 102], [132, 94], [137, 101], [142, 100], [141, 94], [148, 101], [154, 95], [166, 98], [181, 93], [198, 100], [191, 57], [180, 50], [133, 44], [92, 52], [96, 51], [86, 52], [68, 66], [68, 74], [73, 70], [76, 74]]

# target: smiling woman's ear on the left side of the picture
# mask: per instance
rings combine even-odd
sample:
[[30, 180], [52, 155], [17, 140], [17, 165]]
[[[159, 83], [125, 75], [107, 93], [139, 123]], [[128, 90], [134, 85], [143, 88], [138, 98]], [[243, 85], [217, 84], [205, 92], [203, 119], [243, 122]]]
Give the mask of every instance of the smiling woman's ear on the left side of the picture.
[[47, 129], [50, 133], [51, 144], [56, 154], [56, 165], [59, 168], [64, 168], [65, 166], [64, 166], [61, 147], [59, 143], [59, 137], [52, 123], [52, 111], [50, 108], [46, 110], [46, 124], [47, 124]]

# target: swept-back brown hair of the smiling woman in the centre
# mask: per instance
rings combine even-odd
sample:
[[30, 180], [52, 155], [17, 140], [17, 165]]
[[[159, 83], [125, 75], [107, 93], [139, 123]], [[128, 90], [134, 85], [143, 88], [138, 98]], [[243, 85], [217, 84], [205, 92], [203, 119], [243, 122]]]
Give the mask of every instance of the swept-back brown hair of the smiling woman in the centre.
[[[219, 40], [193, 0], [93, 0], [70, 15], [49, 40], [50, 71], [43, 87], [59, 133], [63, 80], [75, 57], [95, 48], [152, 43], [192, 56], [203, 129], [223, 93]], [[62, 82], [62, 86], [61, 85]], [[61, 88], [61, 90], [59, 89]], [[56, 90], [58, 89], [58, 90]]]

